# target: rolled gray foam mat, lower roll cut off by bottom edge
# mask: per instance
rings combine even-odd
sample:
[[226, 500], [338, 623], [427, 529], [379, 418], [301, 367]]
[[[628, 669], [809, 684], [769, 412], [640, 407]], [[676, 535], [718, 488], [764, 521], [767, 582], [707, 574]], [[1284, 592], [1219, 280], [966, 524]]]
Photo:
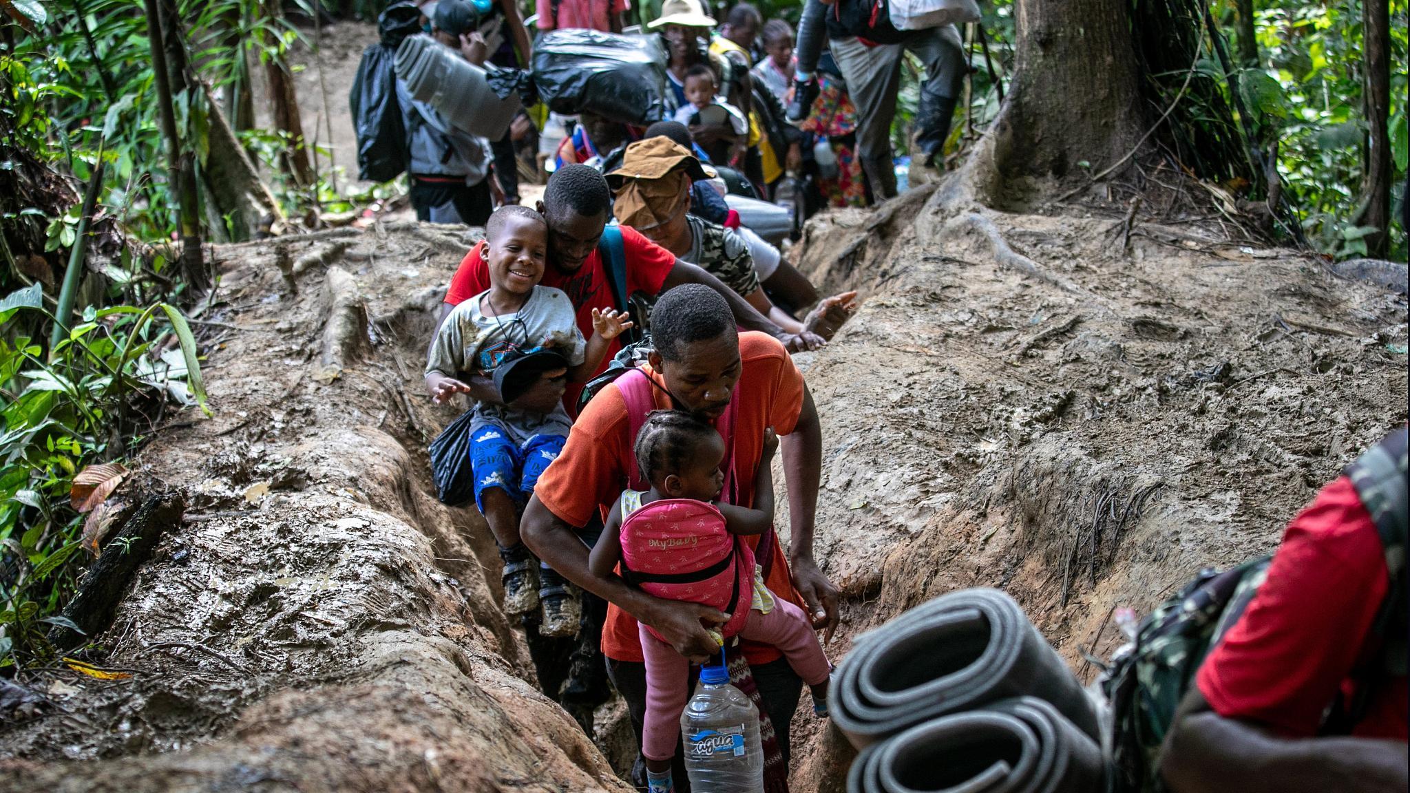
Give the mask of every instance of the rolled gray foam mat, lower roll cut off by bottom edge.
[[847, 793], [1101, 793], [1101, 748], [1036, 697], [942, 715], [873, 744]]

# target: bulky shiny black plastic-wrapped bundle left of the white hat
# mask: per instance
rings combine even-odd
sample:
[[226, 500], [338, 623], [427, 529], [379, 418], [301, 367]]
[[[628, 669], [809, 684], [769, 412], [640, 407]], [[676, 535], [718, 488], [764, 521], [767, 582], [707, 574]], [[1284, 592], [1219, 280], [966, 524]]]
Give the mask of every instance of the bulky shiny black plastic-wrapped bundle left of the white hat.
[[639, 127], [668, 117], [666, 51], [654, 35], [547, 32], [533, 48], [533, 80], [554, 113], [587, 110]]

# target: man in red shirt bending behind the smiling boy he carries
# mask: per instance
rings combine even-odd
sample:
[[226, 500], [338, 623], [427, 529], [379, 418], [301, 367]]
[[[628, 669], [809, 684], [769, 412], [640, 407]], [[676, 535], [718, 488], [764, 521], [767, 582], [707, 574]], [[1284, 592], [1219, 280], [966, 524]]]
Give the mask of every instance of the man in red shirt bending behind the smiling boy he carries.
[[[568, 299], [578, 309], [578, 327], [591, 337], [592, 309], [626, 308], [613, 305], [612, 288], [608, 284], [602, 255], [598, 251], [598, 240], [602, 237], [606, 222], [612, 217], [612, 192], [608, 189], [606, 179], [595, 169], [587, 165], [565, 165], [554, 171], [548, 179], [543, 202], [539, 203], [539, 212], [548, 222], [548, 267], [544, 268], [541, 284], [568, 293]], [[627, 295], [636, 292], [658, 295], [681, 284], [704, 284], [729, 302], [735, 323], [742, 330], [761, 330], [783, 341], [784, 347], [791, 351], [812, 350], [825, 343], [822, 337], [812, 333], [785, 333], [718, 278], [694, 264], [680, 261], [674, 254], [647, 240], [634, 229], [622, 227], [622, 243], [626, 254]], [[460, 262], [460, 268], [451, 278], [437, 325], [444, 322], [451, 308], [488, 288], [489, 271], [485, 268], [485, 261], [479, 257], [477, 246]], [[619, 347], [616, 340], [608, 347], [606, 360], [602, 363], [603, 370]], [[499, 402], [499, 394], [495, 392], [495, 384], [489, 378], [472, 377], [465, 385], [465, 392], [472, 398], [482, 402]], [[561, 388], [561, 380], [541, 381], [539, 388], [520, 398], [520, 404], [526, 406], [544, 405], [543, 401], [547, 399], [547, 406], [551, 408], [554, 401], [551, 391], [556, 387]], [[568, 385], [567, 389], [564, 402], [568, 412], [574, 413], [582, 385]], [[560, 391], [558, 395], [561, 396], [563, 392]]]

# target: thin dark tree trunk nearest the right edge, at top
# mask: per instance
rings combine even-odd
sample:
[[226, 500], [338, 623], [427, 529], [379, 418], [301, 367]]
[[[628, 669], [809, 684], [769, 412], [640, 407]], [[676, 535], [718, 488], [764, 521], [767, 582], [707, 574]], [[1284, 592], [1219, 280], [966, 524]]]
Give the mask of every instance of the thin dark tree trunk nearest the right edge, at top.
[[1369, 141], [1366, 147], [1366, 168], [1361, 179], [1361, 195], [1365, 209], [1361, 226], [1375, 226], [1376, 231], [1366, 236], [1366, 255], [1386, 258], [1390, 248], [1390, 1], [1363, 0], [1362, 3], [1365, 104]]

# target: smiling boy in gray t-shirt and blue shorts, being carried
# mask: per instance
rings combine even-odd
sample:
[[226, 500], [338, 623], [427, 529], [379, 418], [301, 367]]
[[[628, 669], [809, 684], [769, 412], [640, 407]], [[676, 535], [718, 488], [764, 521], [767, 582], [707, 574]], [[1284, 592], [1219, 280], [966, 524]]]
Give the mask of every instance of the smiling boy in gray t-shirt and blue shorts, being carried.
[[[592, 312], [592, 339], [578, 330], [572, 302], [560, 289], [540, 286], [548, 247], [543, 217], [523, 206], [503, 206], [489, 217], [481, 257], [488, 264], [489, 289], [455, 306], [441, 323], [426, 361], [426, 387], [436, 402], [470, 394], [462, 373], [491, 375], [496, 368], [534, 353], [554, 353], [539, 377], [584, 382], [598, 370], [608, 341], [632, 327], [625, 312]], [[526, 364], [529, 361], [525, 361]], [[537, 361], [536, 361], [537, 363]], [[529, 614], [539, 608], [534, 563], [519, 539], [519, 512], [539, 474], [558, 457], [567, 442], [563, 404], [547, 412], [519, 405], [477, 401], [471, 423], [471, 467], [475, 505], [489, 523], [505, 560], [505, 611]], [[544, 621], [540, 634], [571, 635], [578, 628], [578, 604], [556, 573], [543, 567]]]

